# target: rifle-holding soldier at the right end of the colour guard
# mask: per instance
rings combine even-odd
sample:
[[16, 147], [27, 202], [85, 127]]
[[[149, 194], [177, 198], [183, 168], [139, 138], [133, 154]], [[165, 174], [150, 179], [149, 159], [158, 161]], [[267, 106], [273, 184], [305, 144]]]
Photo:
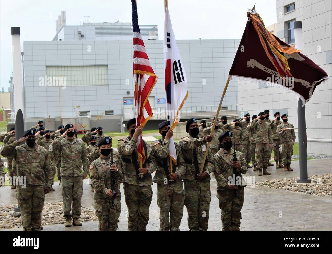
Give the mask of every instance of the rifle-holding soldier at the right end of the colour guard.
[[237, 161], [233, 161], [234, 150], [232, 149], [231, 137], [230, 131], [220, 135], [220, 150], [213, 157], [222, 231], [240, 230], [241, 209], [244, 202], [244, 187], [246, 186], [242, 174], [247, 173], [248, 170], [247, 162], [240, 152], [235, 152]]

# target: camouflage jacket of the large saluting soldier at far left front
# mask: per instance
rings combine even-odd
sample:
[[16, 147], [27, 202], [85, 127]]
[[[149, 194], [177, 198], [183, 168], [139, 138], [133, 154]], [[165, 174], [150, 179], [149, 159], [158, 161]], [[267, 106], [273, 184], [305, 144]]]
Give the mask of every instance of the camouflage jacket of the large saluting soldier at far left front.
[[30, 148], [27, 144], [20, 146], [18, 140], [6, 144], [1, 155], [16, 160], [17, 176], [26, 177], [27, 185], [45, 185], [51, 187], [53, 182], [52, 163], [45, 148], [36, 144]]

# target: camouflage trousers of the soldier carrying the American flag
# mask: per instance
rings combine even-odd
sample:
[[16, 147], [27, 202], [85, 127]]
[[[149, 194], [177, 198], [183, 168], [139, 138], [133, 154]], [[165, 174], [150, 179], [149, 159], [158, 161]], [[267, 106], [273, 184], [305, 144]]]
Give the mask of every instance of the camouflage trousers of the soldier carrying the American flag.
[[151, 185], [124, 182], [124, 200], [128, 207], [128, 231], [145, 231], [152, 201]]

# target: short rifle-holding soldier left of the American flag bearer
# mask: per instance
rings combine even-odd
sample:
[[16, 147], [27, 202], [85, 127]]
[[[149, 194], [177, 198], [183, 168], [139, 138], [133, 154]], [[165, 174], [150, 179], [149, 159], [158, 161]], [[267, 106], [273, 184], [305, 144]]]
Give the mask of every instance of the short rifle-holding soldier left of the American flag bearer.
[[[119, 181], [123, 178], [123, 174], [118, 170], [120, 158], [115, 154], [112, 154], [113, 158], [111, 158], [111, 149], [111, 137], [99, 141], [97, 151], [100, 152], [100, 157], [91, 163], [89, 170], [91, 183], [95, 188], [92, 205], [96, 209], [99, 231], [116, 231], [118, 228], [117, 215], [121, 210]], [[111, 171], [114, 172], [113, 176]], [[112, 180], [114, 186], [112, 186]]]

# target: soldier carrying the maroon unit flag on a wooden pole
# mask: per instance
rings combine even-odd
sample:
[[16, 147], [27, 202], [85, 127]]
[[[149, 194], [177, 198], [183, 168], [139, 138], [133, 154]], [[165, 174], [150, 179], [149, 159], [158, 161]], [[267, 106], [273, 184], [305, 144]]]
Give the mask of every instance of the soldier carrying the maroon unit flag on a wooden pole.
[[189, 137], [180, 140], [180, 147], [186, 162], [183, 182], [188, 226], [190, 231], [207, 231], [211, 202], [210, 173], [213, 171], [211, 150], [208, 150], [203, 172], [200, 173], [200, 170], [207, 142], [211, 142], [212, 137], [198, 138], [199, 128], [195, 118], [187, 121], [186, 132]]

